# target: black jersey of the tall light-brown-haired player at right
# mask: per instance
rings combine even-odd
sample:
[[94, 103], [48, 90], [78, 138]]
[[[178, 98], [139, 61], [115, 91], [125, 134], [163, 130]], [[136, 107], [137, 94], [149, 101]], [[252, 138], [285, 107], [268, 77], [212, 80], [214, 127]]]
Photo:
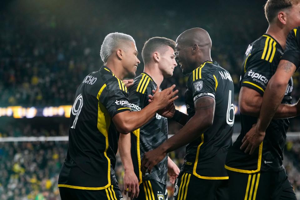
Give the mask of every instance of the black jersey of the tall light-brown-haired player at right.
[[[251, 43], [244, 56], [240, 86], [252, 88], [263, 95], [268, 81], [277, 69], [282, 54], [282, 47], [270, 35], [264, 34]], [[292, 103], [292, 89], [291, 78], [282, 103]], [[266, 130], [263, 142], [252, 155], [249, 155], [244, 153], [244, 150], [240, 150], [240, 147], [242, 139], [255, 123], [257, 123], [256, 117], [241, 114], [241, 134], [227, 154], [225, 168], [228, 170], [241, 173], [282, 170], [282, 153], [289, 125], [288, 119], [273, 119]]]

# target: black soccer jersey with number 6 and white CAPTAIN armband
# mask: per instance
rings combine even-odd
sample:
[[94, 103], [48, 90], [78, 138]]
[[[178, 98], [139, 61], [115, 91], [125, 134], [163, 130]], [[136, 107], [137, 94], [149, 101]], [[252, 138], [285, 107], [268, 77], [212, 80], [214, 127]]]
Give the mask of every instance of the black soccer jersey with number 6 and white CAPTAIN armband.
[[181, 171], [202, 179], [228, 179], [224, 164], [232, 145], [233, 92], [230, 74], [217, 62], [205, 62], [189, 75], [185, 91], [188, 120], [194, 116], [194, 102], [199, 98], [214, 98], [216, 107], [212, 126], [187, 144]]

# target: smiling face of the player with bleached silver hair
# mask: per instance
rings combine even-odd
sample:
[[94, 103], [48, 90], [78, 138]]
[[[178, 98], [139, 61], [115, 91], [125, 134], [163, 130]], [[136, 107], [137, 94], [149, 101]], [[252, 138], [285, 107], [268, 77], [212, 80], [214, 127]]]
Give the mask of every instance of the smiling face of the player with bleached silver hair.
[[138, 59], [138, 50], [133, 42], [124, 49], [124, 56], [122, 64], [124, 71], [126, 73], [125, 78], [135, 77], [135, 72], [137, 71], [138, 64], [141, 63]]

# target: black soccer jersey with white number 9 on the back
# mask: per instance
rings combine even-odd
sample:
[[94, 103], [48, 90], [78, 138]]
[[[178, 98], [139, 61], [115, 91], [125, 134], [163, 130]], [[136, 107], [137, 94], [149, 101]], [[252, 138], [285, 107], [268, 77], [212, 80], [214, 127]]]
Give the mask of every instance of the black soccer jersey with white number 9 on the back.
[[119, 133], [112, 118], [130, 110], [127, 88], [109, 68], [84, 78], [71, 111], [69, 148], [58, 187], [102, 190], [116, 182]]

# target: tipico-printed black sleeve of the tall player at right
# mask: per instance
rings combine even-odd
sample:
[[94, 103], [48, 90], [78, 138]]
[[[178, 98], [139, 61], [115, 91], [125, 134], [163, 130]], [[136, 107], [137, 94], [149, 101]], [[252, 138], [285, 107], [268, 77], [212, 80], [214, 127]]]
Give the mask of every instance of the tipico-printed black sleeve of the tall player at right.
[[262, 59], [262, 54], [262, 50], [257, 51], [247, 59], [247, 63], [245, 63], [244, 66], [245, 73], [241, 77], [240, 82], [241, 87], [246, 86], [257, 91], [261, 95], [265, 92], [267, 83], [273, 74], [272, 63], [266, 59]]

